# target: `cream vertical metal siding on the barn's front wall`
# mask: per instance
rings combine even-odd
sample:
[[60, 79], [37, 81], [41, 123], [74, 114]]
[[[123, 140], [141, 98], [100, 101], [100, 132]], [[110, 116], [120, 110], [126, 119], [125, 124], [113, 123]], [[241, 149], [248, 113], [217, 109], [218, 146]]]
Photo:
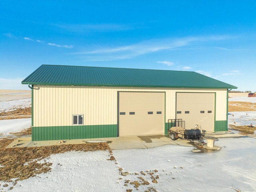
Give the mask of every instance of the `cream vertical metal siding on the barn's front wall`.
[[84, 115], [84, 125], [117, 124], [117, 92], [166, 92], [166, 120], [175, 118], [176, 92], [216, 92], [216, 120], [226, 120], [226, 91], [95, 86], [34, 85], [34, 126], [70, 126], [72, 115]]

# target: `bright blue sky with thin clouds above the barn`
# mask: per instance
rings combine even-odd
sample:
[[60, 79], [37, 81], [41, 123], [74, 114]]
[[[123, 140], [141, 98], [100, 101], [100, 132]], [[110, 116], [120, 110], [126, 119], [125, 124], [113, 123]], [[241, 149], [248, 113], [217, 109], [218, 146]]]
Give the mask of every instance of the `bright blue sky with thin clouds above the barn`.
[[195, 71], [256, 91], [255, 0], [0, 2], [0, 89], [42, 64]]

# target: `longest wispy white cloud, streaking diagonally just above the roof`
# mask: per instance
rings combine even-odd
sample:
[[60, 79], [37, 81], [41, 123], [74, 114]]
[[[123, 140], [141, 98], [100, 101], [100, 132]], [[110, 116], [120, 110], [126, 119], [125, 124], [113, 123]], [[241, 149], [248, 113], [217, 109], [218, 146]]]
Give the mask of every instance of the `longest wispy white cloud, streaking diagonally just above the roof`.
[[192, 42], [202, 41], [219, 41], [234, 38], [232, 36], [202, 36], [202, 37], [185, 37], [185, 38], [162, 38], [152, 39], [120, 47], [101, 47], [92, 51], [75, 52], [72, 54], [80, 54], [90, 56], [94, 60], [119, 60], [120, 58], [134, 58], [162, 50], [174, 50], [176, 48], [190, 45]]

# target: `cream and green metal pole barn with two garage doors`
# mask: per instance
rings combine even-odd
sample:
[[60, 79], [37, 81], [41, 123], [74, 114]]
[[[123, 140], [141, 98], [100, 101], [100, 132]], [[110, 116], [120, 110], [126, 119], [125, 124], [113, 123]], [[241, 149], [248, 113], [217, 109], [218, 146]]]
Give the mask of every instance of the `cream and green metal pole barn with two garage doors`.
[[228, 130], [228, 91], [188, 71], [42, 65], [22, 81], [32, 89], [32, 141]]

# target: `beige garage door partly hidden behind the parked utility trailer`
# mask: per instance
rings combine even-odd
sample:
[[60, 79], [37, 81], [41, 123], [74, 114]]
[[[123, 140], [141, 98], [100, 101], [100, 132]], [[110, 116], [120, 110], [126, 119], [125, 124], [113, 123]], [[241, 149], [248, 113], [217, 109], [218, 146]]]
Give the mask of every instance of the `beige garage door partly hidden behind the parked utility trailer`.
[[176, 118], [185, 120], [186, 129], [196, 124], [214, 131], [214, 93], [176, 93]]

